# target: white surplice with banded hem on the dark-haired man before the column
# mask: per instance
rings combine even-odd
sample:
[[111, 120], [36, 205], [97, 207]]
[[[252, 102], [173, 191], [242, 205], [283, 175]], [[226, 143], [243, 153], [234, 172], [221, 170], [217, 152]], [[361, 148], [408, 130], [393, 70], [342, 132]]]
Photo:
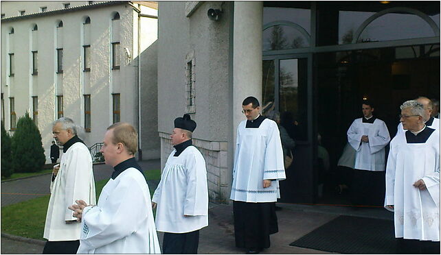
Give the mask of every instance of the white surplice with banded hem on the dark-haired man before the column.
[[[240, 202], [276, 202], [280, 198], [279, 180], [285, 168], [277, 123], [264, 119], [257, 128], [238, 125], [230, 199]], [[274, 180], [268, 188], [263, 180]]]

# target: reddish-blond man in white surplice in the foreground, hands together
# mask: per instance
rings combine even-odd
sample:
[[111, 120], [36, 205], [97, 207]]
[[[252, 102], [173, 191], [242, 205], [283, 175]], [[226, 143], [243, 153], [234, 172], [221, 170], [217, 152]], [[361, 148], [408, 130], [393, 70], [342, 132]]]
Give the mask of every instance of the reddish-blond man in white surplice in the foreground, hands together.
[[98, 205], [72, 204], [82, 223], [78, 254], [160, 254], [150, 191], [135, 160], [135, 128], [118, 122], [107, 128], [101, 152], [112, 178], [102, 189]]

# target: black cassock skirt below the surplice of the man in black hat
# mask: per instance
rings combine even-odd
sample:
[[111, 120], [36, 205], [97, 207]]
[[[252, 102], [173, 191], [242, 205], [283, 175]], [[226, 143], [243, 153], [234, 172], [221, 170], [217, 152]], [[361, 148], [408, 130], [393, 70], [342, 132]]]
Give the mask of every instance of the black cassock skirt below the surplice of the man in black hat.
[[164, 232], [163, 254], [197, 254], [198, 246], [199, 230], [182, 234]]

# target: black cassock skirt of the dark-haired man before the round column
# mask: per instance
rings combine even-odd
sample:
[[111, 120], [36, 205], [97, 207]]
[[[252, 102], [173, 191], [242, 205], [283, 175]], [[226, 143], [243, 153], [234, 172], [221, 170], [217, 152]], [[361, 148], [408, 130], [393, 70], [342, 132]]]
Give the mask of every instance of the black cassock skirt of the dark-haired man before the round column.
[[271, 245], [269, 235], [279, 231], [275, 202], [234, 201], [233, 213], [236, 247], [262, 249]]

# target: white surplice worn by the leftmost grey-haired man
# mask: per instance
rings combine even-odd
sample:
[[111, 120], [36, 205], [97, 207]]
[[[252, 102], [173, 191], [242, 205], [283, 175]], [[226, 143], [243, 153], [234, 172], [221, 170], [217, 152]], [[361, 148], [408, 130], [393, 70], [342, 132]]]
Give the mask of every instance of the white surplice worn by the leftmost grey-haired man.
[[[61, 156], [60, 169], [54, 182], [51, 182], [50, 190], [43, 237], [49, 241], [80, 239], [80, 223], [68, 207], [75, 204], [76, 199], [95, 204], [92, 158], [86, 145], [74, 143]], [[67, 224], [65, 221], [74, 222]]]

